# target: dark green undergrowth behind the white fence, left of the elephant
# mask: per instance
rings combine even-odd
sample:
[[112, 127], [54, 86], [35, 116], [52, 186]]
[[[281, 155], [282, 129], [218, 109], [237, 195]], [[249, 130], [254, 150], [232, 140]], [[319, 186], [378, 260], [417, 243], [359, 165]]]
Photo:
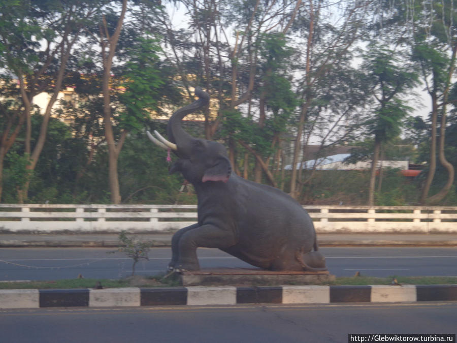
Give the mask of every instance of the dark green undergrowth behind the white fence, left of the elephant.
[[[32, 143], [41, 120], [40, 115], [32, 116]], [[32, 203], [110, 203], [106, 145], [94, 150], [88, 164], [90, 147], [83, 133], [53, 118], [49, 128], [42, 158], [33, 174], [25, 168], [28, 162], [23, 157], [23, 146], [16, 144], [11, 149], [5, 161], [4, 202], [17, 202], [16, 187], [23, 185], [29, 176]], [[149, 130], [154, 129], [163, 130], [151, 123]], [[167, 152], [156, 148], [144, 131], [127, 137], [118, 164], [123, 202], [173, 204], [177, 201], [182, 177], [168, 175], [166, 158]]]

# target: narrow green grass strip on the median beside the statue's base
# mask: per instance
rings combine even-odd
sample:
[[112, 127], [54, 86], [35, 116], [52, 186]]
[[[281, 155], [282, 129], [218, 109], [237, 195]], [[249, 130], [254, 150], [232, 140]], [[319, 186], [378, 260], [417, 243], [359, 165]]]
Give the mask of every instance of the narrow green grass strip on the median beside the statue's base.
[[[429, 276], [429, 277], [337, 277], [334, 282], [325, 285], [391, 285], [396, 278], [398, 283], [404, 285], [457, 285], [457, 276]], [[95, 288], [99, 282], [103, 288], [120, 287], [176, 287], [179, 286], [176, 279], [155, 276], [149, 278], [129, 277], [120, 280], [77, 278], [55, 281], [35, 282], [0, 282], [0, 289], [71, 289], [71, 288]], [[324, 285], [324, 284], [322, 284]]]

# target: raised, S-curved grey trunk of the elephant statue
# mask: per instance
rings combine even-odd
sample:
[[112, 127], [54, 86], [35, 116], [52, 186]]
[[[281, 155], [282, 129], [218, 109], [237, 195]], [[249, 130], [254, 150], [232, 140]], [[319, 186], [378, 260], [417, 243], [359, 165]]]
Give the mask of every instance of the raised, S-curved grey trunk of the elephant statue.
[[193, 137], [183, 130], [181, 120], [187, 114], [195, 112], [209, 103], [208, 93], [200, 87], [195, 88], [195, 95], [199, 97], [199, 100], [177, 110], [167, 124], [168, 138], [178, 146], [178, 152], [185, 153], [185, 150], [190, 148], [190, 142], [193, 140]]

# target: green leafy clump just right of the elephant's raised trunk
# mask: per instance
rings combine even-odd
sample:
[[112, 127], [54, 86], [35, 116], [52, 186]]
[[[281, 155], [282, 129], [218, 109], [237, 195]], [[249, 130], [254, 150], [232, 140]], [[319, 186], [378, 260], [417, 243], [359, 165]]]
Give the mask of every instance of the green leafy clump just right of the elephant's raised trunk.
[[277, 148], [272, 144], [274, 139], [287, 130], [298, 101], [286, 71], [293, 52], [287, 39], [279, 33], [268, 33], [260, 35], [257, 44], [259, 73], [253, 101], [263, 106], [259, 109], [262, 118], [246, 115], [238, 109], [224, 109], [219, 134], [226, 140], [230, 137], [235, 142], [249, 144], [257, 153], [268, 157]]

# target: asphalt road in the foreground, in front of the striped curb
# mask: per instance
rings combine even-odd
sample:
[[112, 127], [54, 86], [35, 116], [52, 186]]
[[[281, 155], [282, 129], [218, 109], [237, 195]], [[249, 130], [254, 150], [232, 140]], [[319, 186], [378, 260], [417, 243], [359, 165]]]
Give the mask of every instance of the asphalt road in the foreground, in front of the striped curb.
[[[450, 333], [457, 303], [0, 310], [3, 342], [347, 342], [348, 334]], [[431, 341], [431, 340], [428, 340]]]

